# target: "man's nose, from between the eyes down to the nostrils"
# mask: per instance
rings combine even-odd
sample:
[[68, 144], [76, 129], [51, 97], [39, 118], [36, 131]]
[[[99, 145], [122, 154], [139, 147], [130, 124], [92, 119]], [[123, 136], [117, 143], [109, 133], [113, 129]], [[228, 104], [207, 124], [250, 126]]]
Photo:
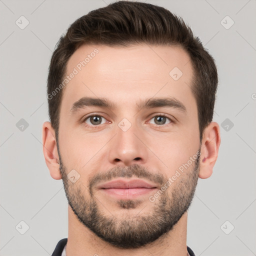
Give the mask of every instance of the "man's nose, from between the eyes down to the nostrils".
[[124, 131], [116, 127], [116, 135], [109, 142], [109, 162], [129, 166], [143, 164], [147, 160], [147, 147], [143, 142], [143, 133], [135, 125]]

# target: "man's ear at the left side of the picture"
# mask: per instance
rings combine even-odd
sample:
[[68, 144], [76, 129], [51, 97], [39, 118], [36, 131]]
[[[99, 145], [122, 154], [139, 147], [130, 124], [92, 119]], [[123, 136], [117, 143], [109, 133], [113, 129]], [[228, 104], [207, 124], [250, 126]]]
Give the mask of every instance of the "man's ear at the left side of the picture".
[[61, 179], [55, 131], [48, 121], [44, 122], [42, 125], [42, 145], [44, 159], [51, 177], [54, 179]]

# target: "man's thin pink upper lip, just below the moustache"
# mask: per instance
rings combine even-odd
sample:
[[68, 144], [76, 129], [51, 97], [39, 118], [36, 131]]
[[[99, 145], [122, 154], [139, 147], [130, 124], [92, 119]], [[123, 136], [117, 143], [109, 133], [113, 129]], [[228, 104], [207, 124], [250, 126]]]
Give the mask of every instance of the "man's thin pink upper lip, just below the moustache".
[[115, 179], [109, 182], [98, 185], [99, 189], [109, 189], [109, 188], [118, 188], [118, 189], [132, 189], [132, 188], [156, 188], [155, 184], [146, 182], [142, 179]]

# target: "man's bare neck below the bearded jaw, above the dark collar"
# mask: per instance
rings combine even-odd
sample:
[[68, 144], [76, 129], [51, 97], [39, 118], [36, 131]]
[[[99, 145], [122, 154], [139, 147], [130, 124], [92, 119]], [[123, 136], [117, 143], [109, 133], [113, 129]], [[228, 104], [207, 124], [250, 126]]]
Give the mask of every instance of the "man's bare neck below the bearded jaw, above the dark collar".
[[187, 212], [185, 212], [171, 231], [157, 240], [141, 248], [117, 248], [105, 242], [90, 229], [84, 226], [75, 216], [68, 205], [68, 239], [66, 244], [67, 256], [80, 255], [116, 255], [116, 256], [187, 256], [186, 249]]

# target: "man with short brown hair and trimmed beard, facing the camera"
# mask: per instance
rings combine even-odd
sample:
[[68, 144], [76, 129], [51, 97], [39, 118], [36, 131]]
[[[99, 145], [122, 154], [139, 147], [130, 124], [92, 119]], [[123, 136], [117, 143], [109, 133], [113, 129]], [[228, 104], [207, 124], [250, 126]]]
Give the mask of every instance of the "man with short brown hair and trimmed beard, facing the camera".
[[43, 123], [68, 237], [52, 255], [194, 255], [187, 210], [220, 144], [217, 71], [183, 20], [117, 1], [70, 25], [53, 52]]

